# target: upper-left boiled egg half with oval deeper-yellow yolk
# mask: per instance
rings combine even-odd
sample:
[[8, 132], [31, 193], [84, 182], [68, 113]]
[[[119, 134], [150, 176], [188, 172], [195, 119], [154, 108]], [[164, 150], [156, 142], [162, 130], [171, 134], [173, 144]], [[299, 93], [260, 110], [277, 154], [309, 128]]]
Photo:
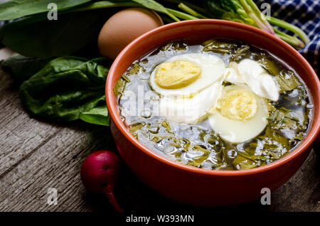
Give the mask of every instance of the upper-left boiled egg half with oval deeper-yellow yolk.
[[215, 55], [186, 53], [159, 64], [149, 83], [162, 96], [188, 97], [223, 77], [225, 63]]

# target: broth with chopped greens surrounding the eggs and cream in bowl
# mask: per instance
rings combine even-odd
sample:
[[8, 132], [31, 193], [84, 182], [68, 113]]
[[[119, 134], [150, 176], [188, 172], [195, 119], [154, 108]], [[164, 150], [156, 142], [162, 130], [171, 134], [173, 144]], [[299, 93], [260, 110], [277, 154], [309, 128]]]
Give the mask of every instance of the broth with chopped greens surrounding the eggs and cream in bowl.
[[[208, 119], [199, 124], [177, 124], [156, 114], [160, 95], [149, 85], [151, 72], [160, 63], [185, 53], [217, 55], [225, 65], [248, 58], [275, 76], [279, 100], [267, 100], [268, 124], [261, 134], [232, 144], [213, 131]], [[306, 136], [313, 108], [306, 85], [287, 65], [265, 50], [229, 40], [212, 39], [199, 45], [167, 43], [132, 63], [114, 92], [122, 121], [142, 144], [173, 161], [213, 170], [255, 168], [289, 154]]]

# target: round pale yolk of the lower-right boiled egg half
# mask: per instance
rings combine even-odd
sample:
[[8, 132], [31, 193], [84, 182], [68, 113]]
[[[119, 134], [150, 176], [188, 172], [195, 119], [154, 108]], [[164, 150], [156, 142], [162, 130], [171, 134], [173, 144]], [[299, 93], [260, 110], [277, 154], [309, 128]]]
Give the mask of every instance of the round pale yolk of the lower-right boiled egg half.
[[257, 99], [247, 90], [230, 90], [220, 98], [218, 109], [223, 117], [247, 121], [257, 113]]

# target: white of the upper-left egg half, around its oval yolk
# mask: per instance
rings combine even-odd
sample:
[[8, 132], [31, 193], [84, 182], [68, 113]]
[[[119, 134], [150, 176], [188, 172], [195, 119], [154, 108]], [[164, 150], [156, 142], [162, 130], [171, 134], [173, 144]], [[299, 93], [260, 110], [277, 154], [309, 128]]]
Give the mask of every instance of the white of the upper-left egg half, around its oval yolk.
[[186, 53], [183, 55], [176, 55], [166, 62], [173, 62], [176, 60], [186, 60], [195, 63], [201, 68], [201, 75], [195, 82], [180, 89], [164, 89], [159, 87], [155, 81], [156, 69], [151, 72], [149, 84], [155, 92], [162, 96], [192, 96], [197, 92], [201, 92], [206, 87], [212, 85], [223, 76], [225, 71], [225, 63], [223, 60], [215, 55], [208, 55], [204, 53]]

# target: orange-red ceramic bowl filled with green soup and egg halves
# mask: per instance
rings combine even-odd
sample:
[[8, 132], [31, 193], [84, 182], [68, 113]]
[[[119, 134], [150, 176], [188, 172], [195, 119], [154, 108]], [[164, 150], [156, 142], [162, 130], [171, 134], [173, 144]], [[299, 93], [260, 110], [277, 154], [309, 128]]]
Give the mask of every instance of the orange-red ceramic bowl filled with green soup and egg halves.
[[172, 23], [137, 38], [114, 61], [106, 96], [132, 171], [194, 205], [278, 188], [319, 131], [319, 80], [302, 55], [230, 21]]

